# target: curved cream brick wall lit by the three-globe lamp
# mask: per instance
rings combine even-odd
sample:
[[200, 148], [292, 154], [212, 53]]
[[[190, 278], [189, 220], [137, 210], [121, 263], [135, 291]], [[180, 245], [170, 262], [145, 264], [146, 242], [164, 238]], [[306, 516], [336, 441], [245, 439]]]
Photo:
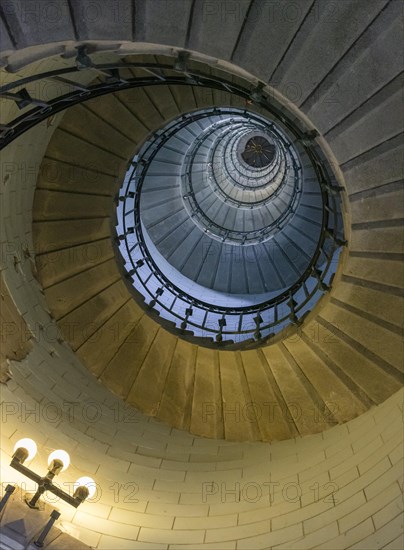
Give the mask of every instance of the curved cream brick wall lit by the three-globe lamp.
[[[2, 388], [2, 480], [14, 443], [33, 437], [31, 466], [71, 455], [58, 483], [92, 476], [97, 494], [59, 527], [108, 549], [399, 549], [403, 392], [322, 434], [264, 443], [194, 436], [123, 403], [40, 344]], [[234, 414], [229, 412], [229, 414]], [[245, 414], [245, 411], [241, 411]], [[33, 486], [26, 485], [28, 491]]]

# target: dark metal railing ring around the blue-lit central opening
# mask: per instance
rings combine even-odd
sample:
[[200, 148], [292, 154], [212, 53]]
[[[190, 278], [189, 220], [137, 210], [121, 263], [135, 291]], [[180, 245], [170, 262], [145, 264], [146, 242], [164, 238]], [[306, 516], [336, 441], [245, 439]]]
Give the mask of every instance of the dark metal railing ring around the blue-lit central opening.
[[[231, 110], [221, 110], [230, 114]], [[154, 310], [168, 328], [179, 331], [184, 337], [200, 339], [205, 345], [255, 346], [267, 341], [289, 325], [298, 325], [314, 307], [324, 292], [329, 290], [336, 270], [340, 247], [344, 244], [342, 219], [337, 208], [337, 196], [326, 167], [310, 146], [305, 147], [307, 157], [317, 175], [323, 199], [323, 216], [320, 238], [312, 260], [301, 277], [289, 288], [271, 299], [241, 307], [226, 307], [205, 301], [184, 291], [159, 268], [150, 254], [140, 218], [128, 226], [126, 218], [140, 212], [140, 196], [148, 167], [160, 147], [198, 116], [210, 116], [211, 111], [193, 114], [171, 124], [156, 141], [149, 141], [141, 149], [119, 195], [118, 235], [119, 249], [127, 262], [126, 271], [133, 287], [143, 297], [147, 307]]]

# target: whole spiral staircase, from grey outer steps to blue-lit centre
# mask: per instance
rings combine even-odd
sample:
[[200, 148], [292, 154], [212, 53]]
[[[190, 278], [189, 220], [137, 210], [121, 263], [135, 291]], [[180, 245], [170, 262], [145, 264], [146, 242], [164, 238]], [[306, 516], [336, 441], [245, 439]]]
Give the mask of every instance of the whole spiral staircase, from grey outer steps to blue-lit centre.
[[305, 0], [292, 14], [172, 0], [166, 21], [161, 2], [106, 2], [106, 19], [122, 11], [102, 27], [80, 17], [87, 4], [29, 32], [20, 3], [1, 10], [4, 82], [63, 67], [59, 90], [83, 94], [20, 125], [3, 96], [5, 152], [43, 132], [26, 148], [38, 167], [18, 238], [32, 237], [24, 277], [43, 292], [38, 319], [56, 323], [52, 349], [196, 440], [326, 438], [382, 406], [403, 382], [400, 2]]

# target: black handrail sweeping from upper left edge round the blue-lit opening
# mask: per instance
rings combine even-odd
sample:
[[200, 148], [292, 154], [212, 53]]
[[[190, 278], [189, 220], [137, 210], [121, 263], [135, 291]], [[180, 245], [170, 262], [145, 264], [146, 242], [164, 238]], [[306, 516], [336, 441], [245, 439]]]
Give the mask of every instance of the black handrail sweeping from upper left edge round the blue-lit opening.
[[[228, 79], [207, 75], [198, 70], [184, 70], [181, 64], [175, 63], [132, 63], [126, 62], [125, 60], [119, 60], [114, 63], [96, 64], [92, 62], [85, 50], [85, 46], [79, 47], [75, 65], [71, 67], [58, 68], [53, 71], [46, 71], [41, 74], [16, 79], [15, 81], [0, 88], [0, 98], [14, 101], [22, 111], [19, 116], [15, 116], [10, 121], [2, 122], [0, 124], [0, 149], [6, 147], [24, 132], [34, 127], [36, 124], [39, 124], [46, 118], [55, 115], [56, 113], [59, 113], [71, 106], [88, 101], [92, 98], [119, 92], [120, 90], [160, 85], [198, 86], [209, 87], [238, 95], [246, 100], [246, 105], [253, 102], [256, 106], [262, 108], [265, 113], [269, 113], [270, 116], [274, 117], [277, 121], [277, 125], [283, 130], [286, 130], [286, 132], [289, 132], [294, 137], [294, 140], [301, 144], [305, 154], [310, 159], [311, 165], [314, 168], [317, 180], [320, 184], [320, 192], [323, 202], [321, 238], [318, 242], [316, 252], [313, 255], [310, 265], [299, 280], [281, 295], [277, 296], [276, 299], [271, 300], [267, 304], [257, 304], [254, 308], [237, 308], [237, 310], [234, 308], [225, 308], [224, 311], [223, 308], [217, 308], [215, 305], [206, 304], [200, 300], [198, 301], [195, 298], [187, 296], [181, 291], [181, 289], [176, 288], [175, 285], [172, 285], [172, 283], [164, 278], [161, 279], [161, 288], [163, 289], [162, 293], [160, 295], [155, 294], [154, 297], [151, 296], [151, 302], [154, 301], [154, 305], [158, 305], [160, 296], [164, 295], [165, 290], [168, 290], [169, 288], [172, 289], [175, 293], [177, 293], [176, 295], [178, 296], [178, 299], [184, 300], [184, 303], [187, 303], [190, 306], [187, 309], [188, 313], [186, 316], [182, 317], [182, 330], [185, 330], [185, 327], [187, 326], [193, 326], [192, 314], [189, 313], [189, 310], [192, 310], [194, 305], [198, 305], [206, 308], [206, 314], [202, 325], [194, 324], [194, 326], [197, 329], [203, 326], [204, 329], [208, 330], [209, 333], [216, 335], [219, 339], [223, 339], [223, 335], [231, 335], [232, 332], [226, 331], [225, 325], [221, 325], [219, 330], [207, 328], [205, 325], [209, 311], [219, 314], [222, 320], [225, 320], [223, 315], [230, 315], [231, 313], [235, 313], [237, 311], [237, 315], [239, 315], [239, 329], [242, 328], [243, 316], [256, 314], [256, 318], [259, 318], [260, 312], [262, 313], [264, 311], [264, 306], [272, 307], [273, 309], [274, 323], [269, 323], [267, 325], [268, 327], [273, 329], [280, 327], [285, 320], [287, 320], [288, 323], [296, 322], [299, 311], [301, 311], [305, 305], [309, 304], [310, 298], [313, 297], [315, 292], [318, 290], [324, 292], [329, 288], [329, 279], [335, 272], [335, 269], [331, 270], [330, 266], [336, 254], [339, 253], [340, 247], [346, 244], [346, 241], [344, 240], [342, 214], [338, 209], [340, 194], [343, 189], [336, 185], [334, 178], [328, 173], [327, 160], [315, 141], [315, 133], [308, 132], [303, 126], [303, 123], [296, 118], [293, 120], [290, 119], [287, 109], [274, 97], [270, 97], [269, 93], [265, 90], [265, 83], [259, 82], [258, 85], [256, 85], [245, 80], [242, 85], [234, 84]], [[83, 55], [86, 58], [86, 63], [82, 62]], [[147, 76], [122, 78], [120, 71], [126, 69], [143, 69]], [[83, 71], [93, 74], [94, 77], [98, 76], [100, 81], [91, 85], [83, 85], [79, 82], [75, 82], [74, 80], [66, 79], [66, 76], [74, 78], [75, 74]], [[164, 71], [169, 71], [169, 74], [166, 75]], [[178, 76], [173, 76], [173, 71], [177, 72]], [[150, 74], [152, 74], [152, 76], [150, 76]], [[64, 86], [67, 86], [70, 90], [67, 93], [63, 93], [63, 91], [61, 91], [61, 93], [59, 93], [56, 97], [49, 100], [32, 97], [25, 86], [40, 80], [57, 81], [62, 83]], [[238, 80], [239, 82], [242, 81], [241, 79]], [[216, 108], [215, 111], [220, 112], [220, 109]], [[251, 112], [248, 111], [247, 107], [244, 111], [240, 110], [240, 112], [244, 112], [246, 116], [251, 116]], [[189, 117], [187, 116], [184, 116], [183, 118], [189, 120]], [[132, 193], [132, 191], [130, 191], [130, 193]], [[134, 197], [136, 196], [137, 194], [135, 193]], [[137, 224], [134, 228], [127, 228], [128, 234], [133, 234], [136, 236], [139, 230], [141, 230], [141, 226], [139, 224]], [[120, 237], [123, 238], [122, 235]], [[142, 246], [144, 245], [141, 242], [135, 242], [133, 247], [127, 247], [128, 249], [132, 248], [132, 250], [139, 249], [142, 251], [142, 255], [145, 256], [144, 253], [146, 251], [142, 248]], [[331, 252], [327, 252], [328, 249], [330, 249]], [[321, 257], [326, 258], [326, 265], [324, 269], [319, 270], [319, 267], [321, 266], [318, 266], [317, 262], [319, 262]], [[143, 261], [143, 265], [145, 263], [149, 265], [150, 260], [151, 259], [146, 256], [144, 257], [144, 260], [138, 259], [139, 265], [134, 266], [133, 269], [128, 271], [128, 273], [132, 273], [132, 271], [133, 274], [139, 273], [139, 270], [141, 269], [141, 262]], [[153, 262], [150, 262], [150, 268], [154, 269]], [[157, 280], [161, 277], [161, 273], [158, 271], [154, 270], [151, 271], [151, 273], [153, 273], [153, 276], [156, 277]], [[308, 282], [312, 280], [317, 282], [315, 288], [309, 291]], [[325, 282], [326, 280], [328, 280], [328, 283]], [[143, 283], [140, 281], [140, 284]], [[282, 317], [282, 313], [280, 311], [281, 306], [285, 305], [286, 300], [290, 300], [290, 296], [295, 295], [301, 289], [303, 290], [306, 299], [301, 302], [300, 305], [298, 304], [298, 307], [295, 305], [293, 305], [293, 308], [287, 306], [288, 314]], [[144, 290], [146, 295], [150, 295], [150, 292], [146, 287], [144, 287]], [[159, 307], [164, 309], [165, 305], [160, 303]], [[172, 315], [178, 319], [180, 318], [177, 314]], [[301, 318], [297, 322], [300, 321]], [[186, 323], [185, 327], [183, 323]], [[267, 327], [262, 327], [260, 322], [255, 324], [256, 330], [253, 338], [259, 342], [261, 341], [260, 334], [262, 334]], [[247, 332], [248, 334], [251, 334], [251, 330], [240, 330], [240, 332]]]

